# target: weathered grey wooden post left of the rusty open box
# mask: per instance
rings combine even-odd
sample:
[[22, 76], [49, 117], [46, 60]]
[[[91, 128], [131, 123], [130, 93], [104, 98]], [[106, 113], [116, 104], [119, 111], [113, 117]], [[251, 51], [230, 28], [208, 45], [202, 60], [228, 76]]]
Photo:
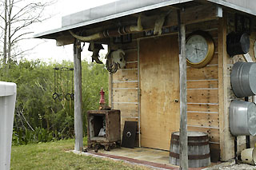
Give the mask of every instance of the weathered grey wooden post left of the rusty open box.
[[81, 42], [74, 42], [74, 150], [82, 151], [82, 66]]

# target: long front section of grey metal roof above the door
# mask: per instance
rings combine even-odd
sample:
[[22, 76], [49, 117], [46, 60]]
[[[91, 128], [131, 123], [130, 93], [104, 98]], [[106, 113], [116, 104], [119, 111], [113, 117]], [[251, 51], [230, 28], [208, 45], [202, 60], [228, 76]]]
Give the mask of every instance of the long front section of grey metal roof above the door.
[[127, 1], [112, 2], [104, 6], [97, 6], [89, 10], [83, 10], [75, 14], [64, 16], [62, 17], [62, 28], [35, 34], [34, 38], [55, 39], [60, 33], [65, 32], [66, 30], [89, 26], [114, 18], [121, 18], [130, 14], [141, 13], [146, 10], [154, 10], [164, 6], [171, 6], [191, 1], [193, 0], [130, 0], [129, 3], [127, 3]]

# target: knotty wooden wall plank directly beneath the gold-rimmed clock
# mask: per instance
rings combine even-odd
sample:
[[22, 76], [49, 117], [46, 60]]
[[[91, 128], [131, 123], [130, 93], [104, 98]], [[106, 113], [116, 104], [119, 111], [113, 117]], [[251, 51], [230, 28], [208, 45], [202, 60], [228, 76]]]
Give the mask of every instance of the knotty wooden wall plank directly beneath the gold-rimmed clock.
[[210, 65], [202, 69], [188, 67], [186, 69], [187, 80], [209, 80], [218, 79], [218, 65]]

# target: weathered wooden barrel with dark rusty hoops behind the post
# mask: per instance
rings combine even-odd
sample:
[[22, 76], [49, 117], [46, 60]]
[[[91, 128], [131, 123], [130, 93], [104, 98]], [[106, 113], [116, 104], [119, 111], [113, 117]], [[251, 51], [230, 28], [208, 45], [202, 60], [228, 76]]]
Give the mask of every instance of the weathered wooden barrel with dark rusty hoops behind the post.
[[[205, 132], [187, 132], [188, 165], [190, 168], [210, 165], [209, 138]], [[179, 164], [179, 132], [173, 132], [170, 140], [170, 164]]]

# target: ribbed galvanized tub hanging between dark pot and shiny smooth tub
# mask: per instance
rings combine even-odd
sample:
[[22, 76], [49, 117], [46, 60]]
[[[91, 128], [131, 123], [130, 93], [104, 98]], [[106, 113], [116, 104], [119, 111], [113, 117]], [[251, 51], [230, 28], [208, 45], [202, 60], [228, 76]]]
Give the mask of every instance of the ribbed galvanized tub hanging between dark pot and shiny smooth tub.
[[250, 97], [256, 94], [256, 63], [236, 62], [231, 72], [231, 85], [234, 94]]

